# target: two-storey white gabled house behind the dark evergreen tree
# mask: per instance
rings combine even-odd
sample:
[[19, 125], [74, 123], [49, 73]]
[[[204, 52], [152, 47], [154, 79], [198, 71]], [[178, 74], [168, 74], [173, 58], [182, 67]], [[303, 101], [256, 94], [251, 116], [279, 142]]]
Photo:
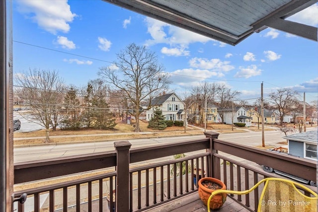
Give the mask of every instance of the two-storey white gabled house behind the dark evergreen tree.
[[157, 96], [151, 100], [151, 108], [146, 111], [146, 120], [149, 121], [156, 108], [160, 108], [165, 120], [183, 121], [184, 103], [175, 93]]

